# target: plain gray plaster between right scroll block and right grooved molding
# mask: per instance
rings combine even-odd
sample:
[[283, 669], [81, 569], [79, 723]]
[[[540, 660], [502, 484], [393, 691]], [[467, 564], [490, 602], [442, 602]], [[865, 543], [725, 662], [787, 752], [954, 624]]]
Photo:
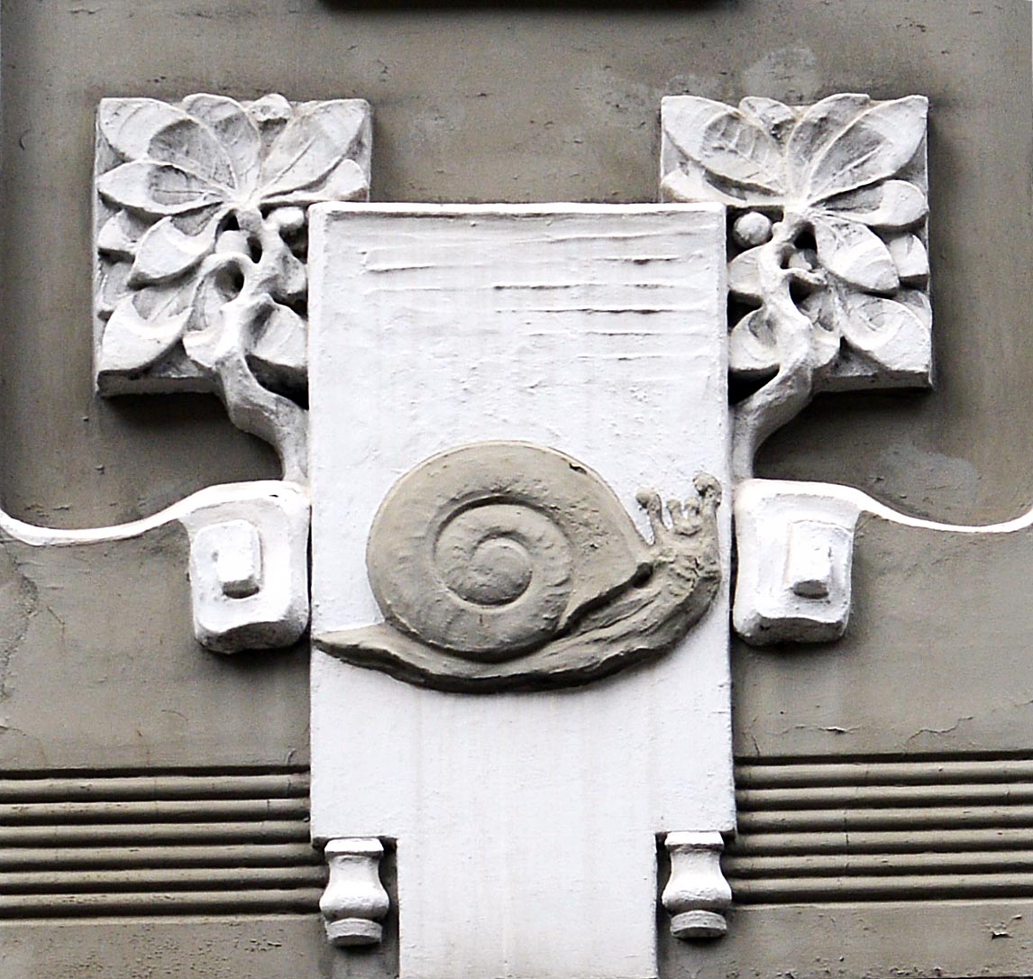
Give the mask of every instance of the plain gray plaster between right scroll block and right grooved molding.
[[838, 642], [732, 651], [737, 756], [1030, 747], [1033, 531], [951, 534], [862, 517]]

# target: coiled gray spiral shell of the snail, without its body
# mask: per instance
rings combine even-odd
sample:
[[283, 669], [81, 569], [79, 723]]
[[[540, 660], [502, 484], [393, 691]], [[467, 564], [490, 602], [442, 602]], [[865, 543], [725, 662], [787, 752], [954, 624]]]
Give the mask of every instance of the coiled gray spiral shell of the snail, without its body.
[[392, 625], [486, 663], [540, 646], [651, 566], [595, 472], [522, 442], [463, 446], [411, 470], [384, 498], [367, 546]]

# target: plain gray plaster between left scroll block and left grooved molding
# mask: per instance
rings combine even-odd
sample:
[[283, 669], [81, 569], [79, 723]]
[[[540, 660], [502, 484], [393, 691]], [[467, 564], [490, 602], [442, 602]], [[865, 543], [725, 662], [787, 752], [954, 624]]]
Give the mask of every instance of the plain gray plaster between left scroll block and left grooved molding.
[[0, 769], [305, 764], [308, 651], [194, 639], [179, 525], [0, 550]]

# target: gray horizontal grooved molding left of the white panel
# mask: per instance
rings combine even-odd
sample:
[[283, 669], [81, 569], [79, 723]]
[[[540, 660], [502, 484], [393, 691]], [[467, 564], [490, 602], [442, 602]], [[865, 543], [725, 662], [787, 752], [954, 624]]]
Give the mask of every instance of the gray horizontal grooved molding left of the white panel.
[[274, 771], [0, 780], [0, 920], [316, 914], [309, 779]]

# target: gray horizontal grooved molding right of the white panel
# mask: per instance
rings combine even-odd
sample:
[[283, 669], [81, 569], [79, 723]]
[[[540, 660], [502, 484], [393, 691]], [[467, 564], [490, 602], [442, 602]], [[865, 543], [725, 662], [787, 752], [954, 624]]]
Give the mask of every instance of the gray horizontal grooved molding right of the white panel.
[[735, 902], [1033, 894], [1033, 760], [742, 762]]

